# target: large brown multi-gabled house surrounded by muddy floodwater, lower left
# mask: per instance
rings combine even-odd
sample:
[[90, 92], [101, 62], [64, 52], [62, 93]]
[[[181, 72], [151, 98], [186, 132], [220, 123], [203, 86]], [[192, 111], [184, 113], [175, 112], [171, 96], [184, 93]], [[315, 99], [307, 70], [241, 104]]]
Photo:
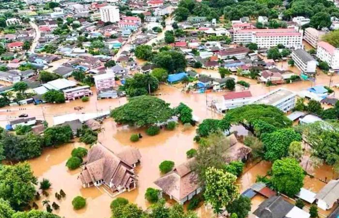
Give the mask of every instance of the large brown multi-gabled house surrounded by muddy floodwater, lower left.
[[133, 167], [99, 142], [88, 152], [78, 179], [83, 187], [104, 185], [115, 195], [134, 189], [138, 181]]

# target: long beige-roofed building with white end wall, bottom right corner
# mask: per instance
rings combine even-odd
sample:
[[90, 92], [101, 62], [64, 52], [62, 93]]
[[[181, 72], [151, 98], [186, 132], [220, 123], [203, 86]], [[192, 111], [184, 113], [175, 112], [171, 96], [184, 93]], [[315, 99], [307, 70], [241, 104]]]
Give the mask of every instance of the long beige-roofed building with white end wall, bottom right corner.
[[317, 205], [323, 210], [329, 210], [339, 200], [339, 179], [329, 181], [315, 196]]

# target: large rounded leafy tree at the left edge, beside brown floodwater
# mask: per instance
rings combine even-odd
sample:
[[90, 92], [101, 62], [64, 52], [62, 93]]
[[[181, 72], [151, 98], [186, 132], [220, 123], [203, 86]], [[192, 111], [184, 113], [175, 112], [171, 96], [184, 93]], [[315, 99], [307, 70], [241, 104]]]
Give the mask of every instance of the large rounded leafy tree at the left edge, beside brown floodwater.
[[0, 166], [0, 198], [6, 199], [15, 210], [27, 206], [35, 195], [37, 180], [28, 163]]

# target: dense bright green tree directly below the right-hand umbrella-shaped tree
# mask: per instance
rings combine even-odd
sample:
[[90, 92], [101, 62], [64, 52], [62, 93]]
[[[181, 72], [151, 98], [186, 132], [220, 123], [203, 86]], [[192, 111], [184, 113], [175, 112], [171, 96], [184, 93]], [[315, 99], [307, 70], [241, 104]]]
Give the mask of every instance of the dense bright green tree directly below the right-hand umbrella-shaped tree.
[[291, 142], [300, 141], [301, 136], [292, 128], [283, 128], [272, 133], [264, 133], [261, 139], [265, 150], [264, 158], [275, 161], [287, 156]]

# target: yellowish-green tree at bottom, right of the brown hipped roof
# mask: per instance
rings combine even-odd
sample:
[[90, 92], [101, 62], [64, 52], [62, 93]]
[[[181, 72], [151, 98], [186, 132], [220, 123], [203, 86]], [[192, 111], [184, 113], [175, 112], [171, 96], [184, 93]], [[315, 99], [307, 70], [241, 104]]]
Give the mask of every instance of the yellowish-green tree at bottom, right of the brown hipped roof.
[[235, 185], [236, 176], [210, 167], [206, 171], [205, 201], [212, 205], [216, 213], [239, 196], [239, 187]]

